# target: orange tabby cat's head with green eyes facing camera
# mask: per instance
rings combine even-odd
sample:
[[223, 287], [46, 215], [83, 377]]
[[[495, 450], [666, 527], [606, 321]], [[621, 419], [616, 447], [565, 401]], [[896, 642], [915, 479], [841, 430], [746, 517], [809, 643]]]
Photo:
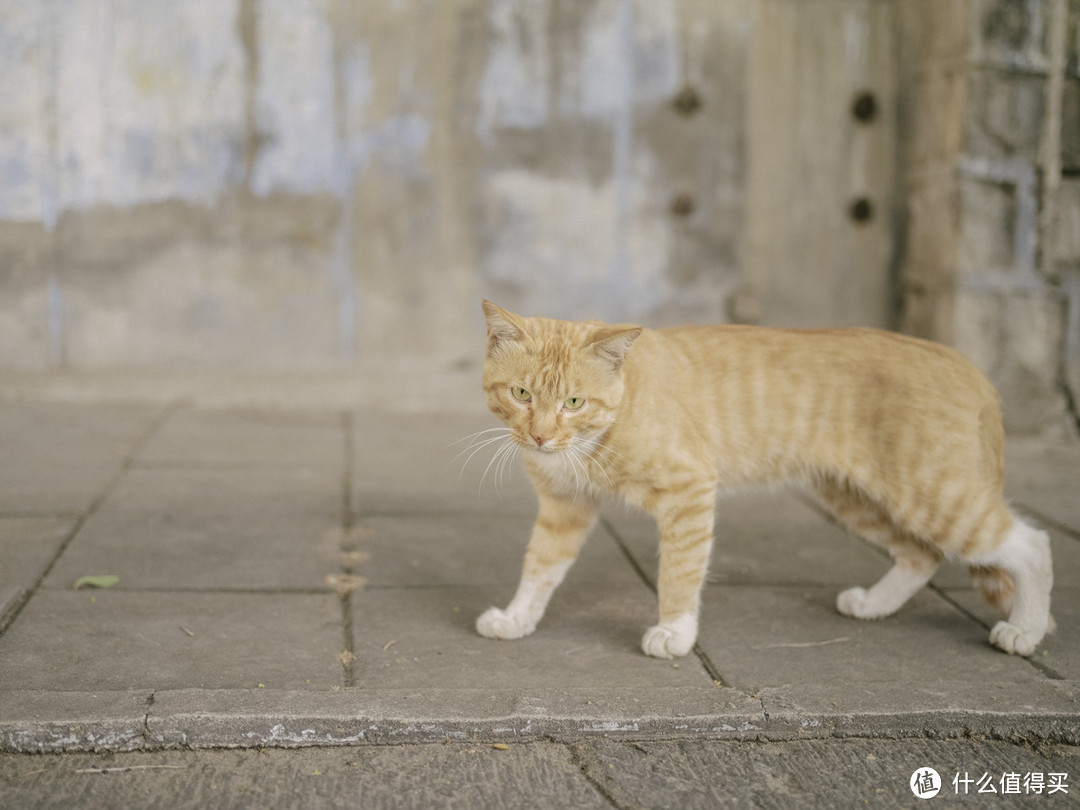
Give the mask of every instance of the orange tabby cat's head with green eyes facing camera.
[[518, 445], [557, 453], [611, 427], [639, 327], [521, 318], [490, 301], [484, 314], [487, 404]]

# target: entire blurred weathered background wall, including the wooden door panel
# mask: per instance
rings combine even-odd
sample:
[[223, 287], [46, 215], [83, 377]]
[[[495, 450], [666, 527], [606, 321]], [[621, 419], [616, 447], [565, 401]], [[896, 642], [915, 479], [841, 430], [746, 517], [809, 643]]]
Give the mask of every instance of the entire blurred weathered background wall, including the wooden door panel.
[[902, 326], [1061, 423], [1056, 1], [0, 0], [0, 368], [446, 369], [487, 296]]

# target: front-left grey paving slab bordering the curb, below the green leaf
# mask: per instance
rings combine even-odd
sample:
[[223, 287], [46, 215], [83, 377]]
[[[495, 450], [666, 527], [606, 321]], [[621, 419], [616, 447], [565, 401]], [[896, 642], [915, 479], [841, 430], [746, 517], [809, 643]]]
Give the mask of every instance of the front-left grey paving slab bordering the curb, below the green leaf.
[[44, 590], [0, 637], [0, 688], [329, 689], [341, 626], [334, 594]]

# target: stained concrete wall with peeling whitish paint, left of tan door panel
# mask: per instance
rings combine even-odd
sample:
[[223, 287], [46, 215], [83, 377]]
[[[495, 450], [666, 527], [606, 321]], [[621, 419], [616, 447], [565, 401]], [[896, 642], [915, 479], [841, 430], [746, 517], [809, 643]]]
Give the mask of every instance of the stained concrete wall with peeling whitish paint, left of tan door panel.
[[63, 5], [0, 2], [0, 365], [442, 362], [481, 295], [725, 318], [746, 3]]

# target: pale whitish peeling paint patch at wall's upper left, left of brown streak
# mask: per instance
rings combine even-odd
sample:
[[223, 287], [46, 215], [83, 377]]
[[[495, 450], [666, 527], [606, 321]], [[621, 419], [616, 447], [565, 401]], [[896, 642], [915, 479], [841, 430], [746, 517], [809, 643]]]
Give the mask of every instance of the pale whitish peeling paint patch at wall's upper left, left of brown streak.
[[212, 204], [239, 178], [235, 9], [76, 0], [57, 27], [59, 204]]

